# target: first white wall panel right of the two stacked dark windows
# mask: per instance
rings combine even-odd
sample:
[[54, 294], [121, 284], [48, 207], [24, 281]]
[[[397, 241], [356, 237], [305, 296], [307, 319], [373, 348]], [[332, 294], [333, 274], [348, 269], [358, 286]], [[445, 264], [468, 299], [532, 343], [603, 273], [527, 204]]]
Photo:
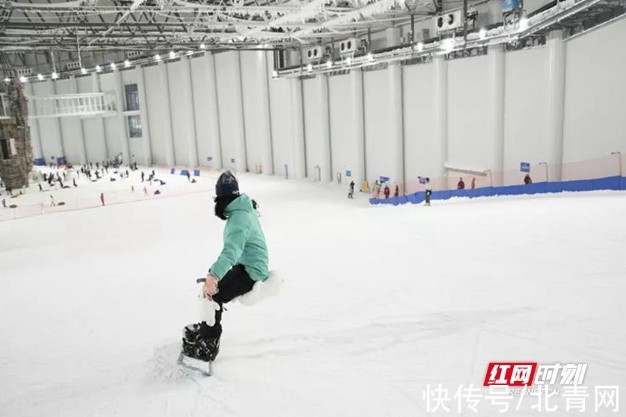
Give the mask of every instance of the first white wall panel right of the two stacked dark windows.
[[165, 71], [163, 71], [160, 65], [163, 64], [145, 67], [144, 69], [152, 163], [156, 165], [174, 165], [168, 86]]

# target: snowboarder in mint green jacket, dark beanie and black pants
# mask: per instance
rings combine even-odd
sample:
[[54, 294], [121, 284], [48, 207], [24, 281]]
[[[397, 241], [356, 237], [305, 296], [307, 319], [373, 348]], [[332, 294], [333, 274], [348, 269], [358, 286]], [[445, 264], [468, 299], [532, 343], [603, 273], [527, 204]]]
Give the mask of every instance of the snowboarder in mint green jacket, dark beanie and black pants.
[[239, 193], [239, 184], [230, 171], [220, 175], [215, 193], [215, 215], [226, 222], [224, 245], [202, 286], [204, 300], [201, 301], [210, 306], [204, 313], [204, 321], [183, 329], [180, 359], [183, 365], [182, 358], [189, 357], [209, 362], [210, 367], [220, 348], [223, 305], [235, 297], [252, 294], [252, 288], [257, 288], [255, 283], [269, 277], [267, 245], [257, 203]]

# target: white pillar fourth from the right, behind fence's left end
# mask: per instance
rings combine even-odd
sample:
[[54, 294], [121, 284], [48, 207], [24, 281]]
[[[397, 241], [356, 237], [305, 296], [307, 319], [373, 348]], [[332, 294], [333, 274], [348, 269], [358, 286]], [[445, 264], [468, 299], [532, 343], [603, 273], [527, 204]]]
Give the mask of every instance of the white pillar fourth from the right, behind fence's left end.
[[389, 136], [387, 149], [393, 155], [390, 174], [391, 181], [404, 189], [404, 131], [402, 126], [402, 72], [399, 63], [390, 63], [387, 67], [387, 120]]

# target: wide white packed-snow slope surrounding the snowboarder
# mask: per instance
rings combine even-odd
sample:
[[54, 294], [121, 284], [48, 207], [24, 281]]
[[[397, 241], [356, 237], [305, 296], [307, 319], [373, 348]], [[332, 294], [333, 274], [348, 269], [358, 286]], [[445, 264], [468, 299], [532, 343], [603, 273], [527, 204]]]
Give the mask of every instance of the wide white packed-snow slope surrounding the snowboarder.
[[[428, 413], [426, 385], [481, 386], [490, 361], [587, 363], [585, 415], [619, 414], [592, 400], [595, 385], [626, 388], [625, 193], [369, 206], [344, 186], [242, 174], [285, 284], [227, 306], [201, 377], [175, 362], [222, 245], [215, 178], [0, 222], [1, 416], [458, 415], [454, 400]], [[98, 204], [109, 186], [122, 183], [55, 199]], [[530, 404], [504, 415], [542, 415]]]

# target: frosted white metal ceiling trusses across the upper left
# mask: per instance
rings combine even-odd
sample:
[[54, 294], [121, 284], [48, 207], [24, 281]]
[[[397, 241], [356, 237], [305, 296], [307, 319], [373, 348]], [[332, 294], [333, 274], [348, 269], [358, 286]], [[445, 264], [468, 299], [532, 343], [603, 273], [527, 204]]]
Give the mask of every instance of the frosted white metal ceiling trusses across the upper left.
[[433, 0], [4, 0], [0, 6], [2, 51], [299, 47], [436, 12]]

